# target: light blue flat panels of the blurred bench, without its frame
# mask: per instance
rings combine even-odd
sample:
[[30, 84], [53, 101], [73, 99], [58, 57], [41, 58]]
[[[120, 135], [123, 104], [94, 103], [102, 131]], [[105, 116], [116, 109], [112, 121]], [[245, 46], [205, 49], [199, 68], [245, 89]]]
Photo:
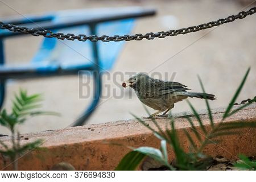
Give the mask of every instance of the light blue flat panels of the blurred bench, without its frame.
[[[106, 10], [105, 10], [106, 11]], [[73, 19], [73, 15], [65, 11], [65, 14], [59, 13], [53, 19], [53, 23], [61, 23], [63, 21], [69, 21]], [[73, 13], [73, 11], [71, 11]], [[104, 13], [104, 12], [102, 12]], [[110, 14], [111, 11], [106, 11], [105, 14]], [[79, 13], [76, 13], [79, 14]], [[81, 12], [80, 16], [92, 16], [87, 15], [87, 12]], [[118, 20], [115, 22], [104, 22], [97, 24], [96, 31], [98, 35], [126, 35], [134, 28], [134, 19]], [[90, 27], [83, 25], [79, 27], [64, 28], [60, 30], [54, 30], [55, 32], [63, 32], [64, 34], [87, 34], [90, 35]], [[98, 56], [99, 65], [102, 71], [109, 71], [117, 60], [119, 53], [121, 52], [125, 42], [111, 42], [104, 43], [99, 42]], [[59, 64], [63, 70], [72, 69], [84, 69], [91, 67], [94, 63], [93, 55], [93, 43], [92, 42], [79, 42], [69, 40], [57, 40], [57, 39], [44, 39], [39, 51], [32, 59], [32, 63], [51, 63]]]

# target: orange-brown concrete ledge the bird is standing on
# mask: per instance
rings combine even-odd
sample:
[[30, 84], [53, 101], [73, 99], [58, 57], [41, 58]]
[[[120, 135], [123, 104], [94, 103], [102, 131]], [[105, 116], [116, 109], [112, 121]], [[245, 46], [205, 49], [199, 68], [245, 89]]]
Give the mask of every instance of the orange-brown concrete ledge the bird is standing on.
[[[214, 121], [220, 122], [224, 109], [214, 109]], [[191, 113], [187, 113], [191, 114]], [[187, 141], [182, 129], [191, 133], [189, 123], [182, 117], [183, 113], [175, 114], [176, 129], [183, 147], [188, 150]], [[206, 111], [200, 111], [205, 127], [209, 128], [209, 119]], [[198, 127], [196, 118], [191, 116], [195, 126]], [[149, 120], [150, 126], [154, 124]], [[255, 121], [256, 104], [246, 107], [242, 111], [226, 119], [230, 121]], [[157, 118], [160, 127], [164, 129], [168, 119]], [[221, 137], [222, 142], [218, 145], [208, 145], [204, 152], [215, 156], [222, 155], [227, 159], [236, 159], [240, 153], [245, 155], [256, 154], [256, 129], [241, 129], [241, 135]], [[19, 160], [20, 170], [48, 170], [53, 164], [60, 162], [71, 163], [77, 170], [110, 170], [114, 169], [122, 157], [129, 151], [126, 147], [114, 146], [105, 142], [120, 143], [125, 146], [152, 146], [159, 148], [159, 140], [152, 132], [141, 125], [135, 119], [102, 123], [98, 125], [86, 125], [81, 127], [69, 127], [63, 130], [42, 131], [40, 133], [24, 134], [21, 143], [43, 139], [43, 147], [47, 150], [32, 151]], [[24, 138], [28, 138], [25, 140]], [[10, 144], [10, 137], [1, 137], [1, 140]], [[170, 149], [170, 159], [174, 155]], [[0, 157], [0, 168], [3, 168], [3, 160]], [[12, 169], [9, 166], [5, 169]]]

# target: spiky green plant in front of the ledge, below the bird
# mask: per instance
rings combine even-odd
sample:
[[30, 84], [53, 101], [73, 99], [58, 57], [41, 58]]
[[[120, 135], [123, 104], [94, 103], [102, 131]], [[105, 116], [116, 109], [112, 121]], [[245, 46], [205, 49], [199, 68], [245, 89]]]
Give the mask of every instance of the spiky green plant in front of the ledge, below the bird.
[[[236, 129], [243, 128], [243, 127], [256, 127], [256, 121], [251, 122], [223, 122], [226, 118], [230, 117], [237, 111], [240, 111], [244, 107], [250, 105], [252, 102], [255, 102], [255, 98], [251, 100], [247, 104], [243, 104], [242, 106], [238, 107], [237, 109], [233, 109], [233, 105], [236, 102], [238, 95], [241, 92], [243, 85], [245, 84], [246, 78], [249, 74], [250, 68], [247, 70], [245, 76], [242, 79], [240, 86], [238, 87], [236, 93], [234, 94], [232, 100], [230, 101], [228, 107], [225, 110], [224, 115], [222, 116], [222, 121], [215, 124], [212, 117], [212, 110], [210, 109], [208, 100], [205, 100], [207, 110], [208, 110], [208, 117], [210, 121], [210, 129], [205, 129], [203, 125], [203, 121], [200, 118], [200, 115], [197, 113], [196, 109], [192, 106], [192, 104], [188, 101], [189, 107], [193, 114], [195, 115], [197, 122], [199, 123], [199, 128], [195, 127], [194, 123], [192, 122], [191, 118], [188, 116], [184, 116], [187, 118], [189, 124], [191, 125], [193, 135], [195, 135], [196, 139], [193, 139], [192, 135], [188, 133], [187, 130], [183, 130], [184, 134], [187, 136], [189, 143], [191, 144], [190, 151], [185, 152], [184, 149], [180, 145], [179, 138], [177, 137], [177, 133], [175, 130], [175, 119], [173, 117], [170, 118], [170, 128], [166, 127], [166, 131], [163, 131], [158, 123], [155, 121], [154, 118], [151, 118], [151, 121], [154, 123], [158, 130], [154, 130], [152, 127], [147, 125], [142, 119], [136, 117], [142, 125], [147, 127], [151, 130], [157, 138], [160, 139], [160, 149], [153, 148], [153, 147], [139, 147], [133, 148], [133, 151], [129, 152], [124, 156], [121, 162], [118, 164], [116, 170], [134, 170], [139, 163], [142, 162], [145, 156], [149, 156], [154, 160], [162, 163], [163, 166], [166, 166], [170, 170], [204, 170], [207, 169], [208, 163], [210, 162], [210, 156], [204, 155], [202, 153], [203, 149], [207, 144], [210, 143], [218, 143], [220, 140], [216, 139], [217, 137], [224, 136], [224, 135], [234, 135], [237, 134], [238, 131]], [[199, 77], [200, 85], [205, 93], [203, 83]], [[146, 107], [145, 107], [146, 109]], [[148, 115], [150, 113], [146, 109]], [[197, 140], [197, 141], [196, 141]], [[197, 144], [199, 143], [199, 144]], [[167, 155], [167, 144], [169, 144], [172, 149], [174, 150], [175, 154], [175, 162], [170, 164]]]

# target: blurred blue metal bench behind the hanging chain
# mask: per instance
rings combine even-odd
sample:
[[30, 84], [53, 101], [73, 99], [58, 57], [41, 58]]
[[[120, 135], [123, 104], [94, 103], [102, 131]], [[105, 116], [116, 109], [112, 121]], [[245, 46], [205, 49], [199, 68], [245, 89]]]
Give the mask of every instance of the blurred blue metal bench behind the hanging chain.
[[[151, 9], [140, 7], [66, 10], [44, 16], [29, 16], [27, 19], [6, 19], [5, 23], [39, 30], [51, 30], [64, 34], [126, 35], [134, 25], [134, 18], [154, 15]], [[101, 73], [109, 71], [125, 42], [78, 42], [44, 38], [42, 46], [30, 64], [6, 65], [4, 40], [24, 35], [0, 30], [0, 108], [5, 97], [8, 79], [36, 78], [77, 74], [91, 71], [94, 80], [93, 100], [76, 120], [75, 126], [84, 125], [96, 108], [101, 96]]]

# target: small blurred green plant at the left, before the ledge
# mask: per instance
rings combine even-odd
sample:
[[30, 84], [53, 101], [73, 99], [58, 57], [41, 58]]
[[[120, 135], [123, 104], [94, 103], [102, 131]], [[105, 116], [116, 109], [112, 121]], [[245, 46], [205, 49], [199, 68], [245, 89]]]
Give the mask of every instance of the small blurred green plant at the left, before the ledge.
[[19, 94], [15, 94], [11, 113], [8, 114], [6, 109], [2, 109], [0, 111], [0, 125], [7, 127], [7, 129], [10, 130], [12, 144], [12, 146], [9, 147], [0, 140], [0, 146], [3, 148], [0, 148], [0, 154], [2, 154], [3, 158], [11, 160], [15, 170], [18, 170], [19, 156], [28, 150], [39, 147], [43, 142], [39, 139], [34, 142], [20, 145], [20, 134], [16, 129], [16, 126], [24, 123], [30, 117], [35, 117], [36, 115], [56, 115], [56, 113], [53, 112], [37, 110], [41, 107], [41, 101], [42, 98], [40, 94], [28, 95], [26, 90], [20, 89]]

